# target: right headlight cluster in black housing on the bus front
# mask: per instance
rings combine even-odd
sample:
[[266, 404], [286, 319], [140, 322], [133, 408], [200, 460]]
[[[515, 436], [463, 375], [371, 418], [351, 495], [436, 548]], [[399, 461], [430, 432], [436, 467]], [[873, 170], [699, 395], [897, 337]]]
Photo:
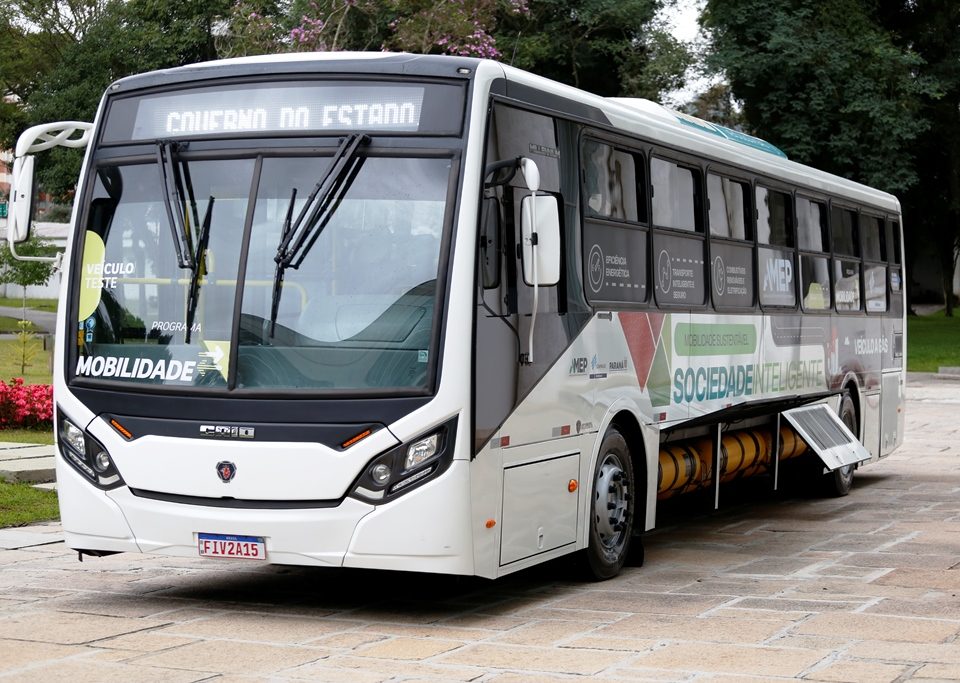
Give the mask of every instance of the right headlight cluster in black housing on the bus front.
[[368, 503], [385, 503], [447, 469], [453, 460], [457, 418], [367, 463], [350, 495]]

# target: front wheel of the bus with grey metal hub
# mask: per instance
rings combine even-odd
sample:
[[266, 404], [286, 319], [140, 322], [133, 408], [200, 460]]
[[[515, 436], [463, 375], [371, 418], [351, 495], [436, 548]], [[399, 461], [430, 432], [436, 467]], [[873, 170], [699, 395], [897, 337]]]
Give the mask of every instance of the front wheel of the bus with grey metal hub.
[[627, 442], [610, 428], [593, 469], [590, 538], [583, 551], [587, 576], [594, 580], [604, 581], [619, 574], [630, 554], [631, 541], [639, 543], [632, 538], [637, 500], [634, 481]]

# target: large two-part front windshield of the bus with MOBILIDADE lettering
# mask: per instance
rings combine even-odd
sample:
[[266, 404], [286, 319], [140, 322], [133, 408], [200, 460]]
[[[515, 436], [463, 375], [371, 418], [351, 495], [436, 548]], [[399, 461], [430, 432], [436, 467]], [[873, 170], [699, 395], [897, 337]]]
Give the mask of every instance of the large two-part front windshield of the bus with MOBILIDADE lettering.
[[98, 167], [76, 271], [74, 376], [426, 390], [453, 159], [364, 150], [278, 268], [285, 227], [320, 201], [332, 159], [176, 154]]

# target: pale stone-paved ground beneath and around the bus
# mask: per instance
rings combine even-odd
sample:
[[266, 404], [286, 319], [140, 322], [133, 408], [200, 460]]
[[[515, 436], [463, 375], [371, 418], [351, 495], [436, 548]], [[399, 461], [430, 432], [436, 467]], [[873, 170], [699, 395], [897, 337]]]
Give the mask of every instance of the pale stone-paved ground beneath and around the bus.
[[960, 382], [922, 378], [908, 411], [848, 497], [687, 505], [605, 583], [80, 564], [57, 525], [9, 530], [0, 680], [958, 680]]

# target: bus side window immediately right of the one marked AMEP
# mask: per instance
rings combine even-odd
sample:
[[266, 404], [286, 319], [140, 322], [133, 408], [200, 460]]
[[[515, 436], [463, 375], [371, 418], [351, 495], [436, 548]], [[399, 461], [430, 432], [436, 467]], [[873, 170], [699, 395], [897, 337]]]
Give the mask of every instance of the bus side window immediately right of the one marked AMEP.
[[800, 247], [800, 301], [804, 310], [830, 308], [830, 256], [827, 205], [797, 197], [797, 243]]

